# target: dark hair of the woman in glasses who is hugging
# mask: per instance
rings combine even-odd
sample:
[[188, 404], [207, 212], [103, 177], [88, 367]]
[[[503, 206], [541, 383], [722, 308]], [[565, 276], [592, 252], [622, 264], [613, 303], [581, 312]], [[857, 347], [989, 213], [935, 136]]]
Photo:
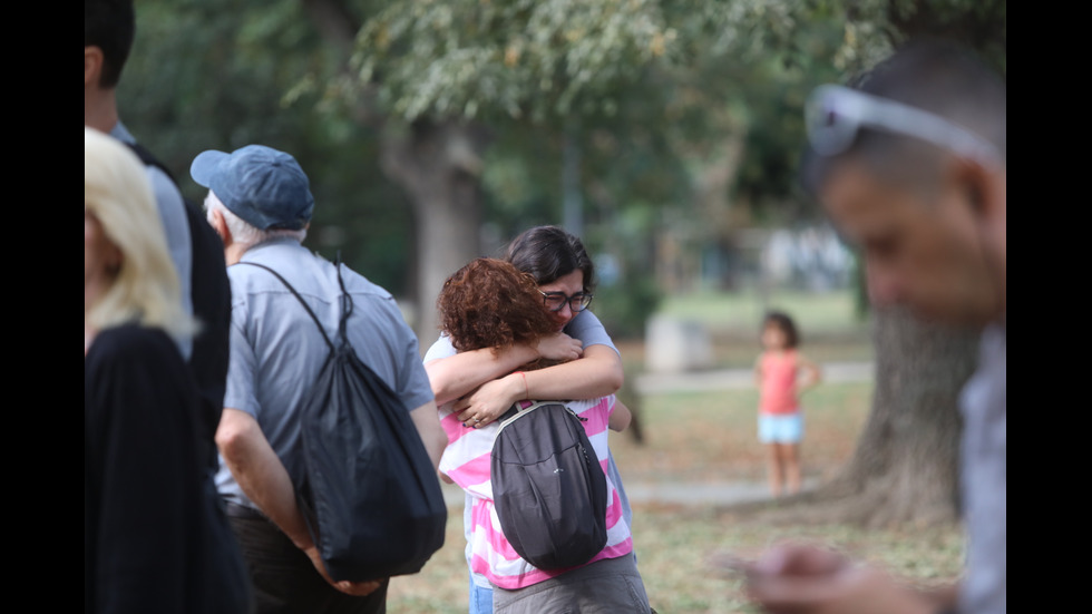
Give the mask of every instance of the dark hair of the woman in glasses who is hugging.
[[584, 272], [584, 292], [595, 289], [595, 265], [584, 244], [557, 226], [535, 226], [524, 231], [508, 245], [505, 260], [524, 273], [530, 273], [538, 285], [581, 270]]

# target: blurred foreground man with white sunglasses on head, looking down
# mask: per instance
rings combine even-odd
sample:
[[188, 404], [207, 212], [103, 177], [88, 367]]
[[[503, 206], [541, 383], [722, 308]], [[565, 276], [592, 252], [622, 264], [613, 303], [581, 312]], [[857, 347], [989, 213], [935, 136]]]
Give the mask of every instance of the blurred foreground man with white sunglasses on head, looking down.
[[1007, 607], [1006, 88], [964, 50], [907, 46], [857, 89], [823, 86], [808, 109], [806, 181], [865, 260], [870, 299], [981, 329], [961, 396], [968, 535], [958, 587], [924, 593], [801, 545], [748, 566], [768, 612], [1004, 614]]

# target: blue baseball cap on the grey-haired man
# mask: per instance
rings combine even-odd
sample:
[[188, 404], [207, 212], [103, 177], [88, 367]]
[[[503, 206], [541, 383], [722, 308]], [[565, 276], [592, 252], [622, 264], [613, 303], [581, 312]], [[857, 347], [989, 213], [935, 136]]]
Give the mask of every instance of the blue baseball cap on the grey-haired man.
[[189, 175], [261, 231], [298, 231], [311, 222], [314, 197], [308, 175], [284, 152], [264, 145], [247, 145], [231, 154], [209, 149], [194, 158]]

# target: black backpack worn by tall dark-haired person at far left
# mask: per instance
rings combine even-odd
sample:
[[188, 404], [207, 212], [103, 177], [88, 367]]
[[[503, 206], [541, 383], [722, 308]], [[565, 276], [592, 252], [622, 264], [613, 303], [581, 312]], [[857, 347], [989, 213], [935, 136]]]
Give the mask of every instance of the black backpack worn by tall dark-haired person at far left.
[[[124, 143], [124, 142], [123, 142]], [[137, 143], [126, 143], [145, 166], [155, 166], [178, 186], [170, 169], [146, 147]], [[179, 189], [179, 193], [182, 191]], [[201, 330], [193, 340], [189, 369], [197, 380], [205, 432], [202, 441], [203, 452], [211, 467], [218, 466], [216, 446], [213, 444], [220, 416], [224, 410], [224, 388], [227, 381], [228, 333], [232, 323], [232, 286], [227, 280], [224, 262], [224, 243], [205, 220], [201, 207], [183, 197], [186, 221], [189, 223], [189, 246], [192, 259], [189, 294], [194, 316], [201, 322]], [[211, 429], [211, 430], [209, 430]]]

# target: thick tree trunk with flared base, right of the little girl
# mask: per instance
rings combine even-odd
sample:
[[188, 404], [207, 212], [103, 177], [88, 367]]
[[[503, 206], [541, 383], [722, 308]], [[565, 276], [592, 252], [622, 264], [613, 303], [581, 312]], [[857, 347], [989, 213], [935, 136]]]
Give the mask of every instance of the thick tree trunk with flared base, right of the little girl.
[[958, 519], [958, 394], [974, 371], [977, 335], [901, 310], [874, 316], [876, 388], [854, 456], [786, 519], [867, 527]]

